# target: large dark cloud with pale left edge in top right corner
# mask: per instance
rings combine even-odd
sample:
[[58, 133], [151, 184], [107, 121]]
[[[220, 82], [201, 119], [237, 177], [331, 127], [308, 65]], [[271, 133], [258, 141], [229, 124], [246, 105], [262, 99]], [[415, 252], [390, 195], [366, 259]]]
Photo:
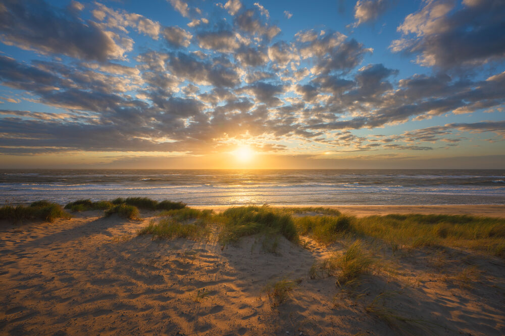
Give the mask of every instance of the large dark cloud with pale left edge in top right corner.
[[500, 0], [429, 1], [409, 14], [392, 41], [393, 52], [416, 54], [417, 63], [443, 69], [481, 66], [505, 57], [505, 3]]

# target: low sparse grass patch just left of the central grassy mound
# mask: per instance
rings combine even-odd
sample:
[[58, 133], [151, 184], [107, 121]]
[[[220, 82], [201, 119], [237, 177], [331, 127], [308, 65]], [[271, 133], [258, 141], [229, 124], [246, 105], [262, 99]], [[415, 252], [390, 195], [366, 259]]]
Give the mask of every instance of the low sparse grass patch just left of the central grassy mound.
[[209, 237], [210, 230], [205, 221], [181, 223], [173, 218], [165, 218], [158, 223], [151, 221], [149, 225], [137, 232], [138, 236], [153, 235], [153, 239], [185, 238], [200, 240]]

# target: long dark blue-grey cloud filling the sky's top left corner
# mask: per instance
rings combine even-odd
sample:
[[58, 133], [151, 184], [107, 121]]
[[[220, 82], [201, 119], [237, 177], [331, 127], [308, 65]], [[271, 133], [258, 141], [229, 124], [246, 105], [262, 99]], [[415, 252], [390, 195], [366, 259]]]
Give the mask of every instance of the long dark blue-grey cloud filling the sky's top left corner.
[[129, 38], [103, 30], [92, 21], [83, 22], [73, 12], [55, 9], [43, 1], [3, 2], [0, 32], [5, 44], [100, 62], [124, 58], [133, 45]]

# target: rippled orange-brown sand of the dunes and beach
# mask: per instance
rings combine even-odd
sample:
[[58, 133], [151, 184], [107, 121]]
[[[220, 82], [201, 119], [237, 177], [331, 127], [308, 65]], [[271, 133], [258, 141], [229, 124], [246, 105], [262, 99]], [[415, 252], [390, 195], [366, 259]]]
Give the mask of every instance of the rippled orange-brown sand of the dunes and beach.
[[[468, 213], [446, 208], [438, 209]], [[500, 207], [472, 208], [488, 214]], [[314, 261], [341, 253], [340, 244], [308, 240], [301, 248], [282, 238], [277, 253], [268, 253], [261, 237], [223, 250], [213, 240], [153, 241], [135, 236], [155, 219], [141, 214], [132, 221], [88, 211], [0, 225], [0, 334], [505, 334], [502, 259], [449, 249], [377, 251], [390, 263], [351, 297], [334, 277], [308, 278]], [[475, 269], [471, 288], [455, 277], [465, 267]], [[263, 289], [283, 277], [301, 283], [272, 307]], [[384, 292], [385, 307], [413, 319], [410, 325], [366, 311]]]

